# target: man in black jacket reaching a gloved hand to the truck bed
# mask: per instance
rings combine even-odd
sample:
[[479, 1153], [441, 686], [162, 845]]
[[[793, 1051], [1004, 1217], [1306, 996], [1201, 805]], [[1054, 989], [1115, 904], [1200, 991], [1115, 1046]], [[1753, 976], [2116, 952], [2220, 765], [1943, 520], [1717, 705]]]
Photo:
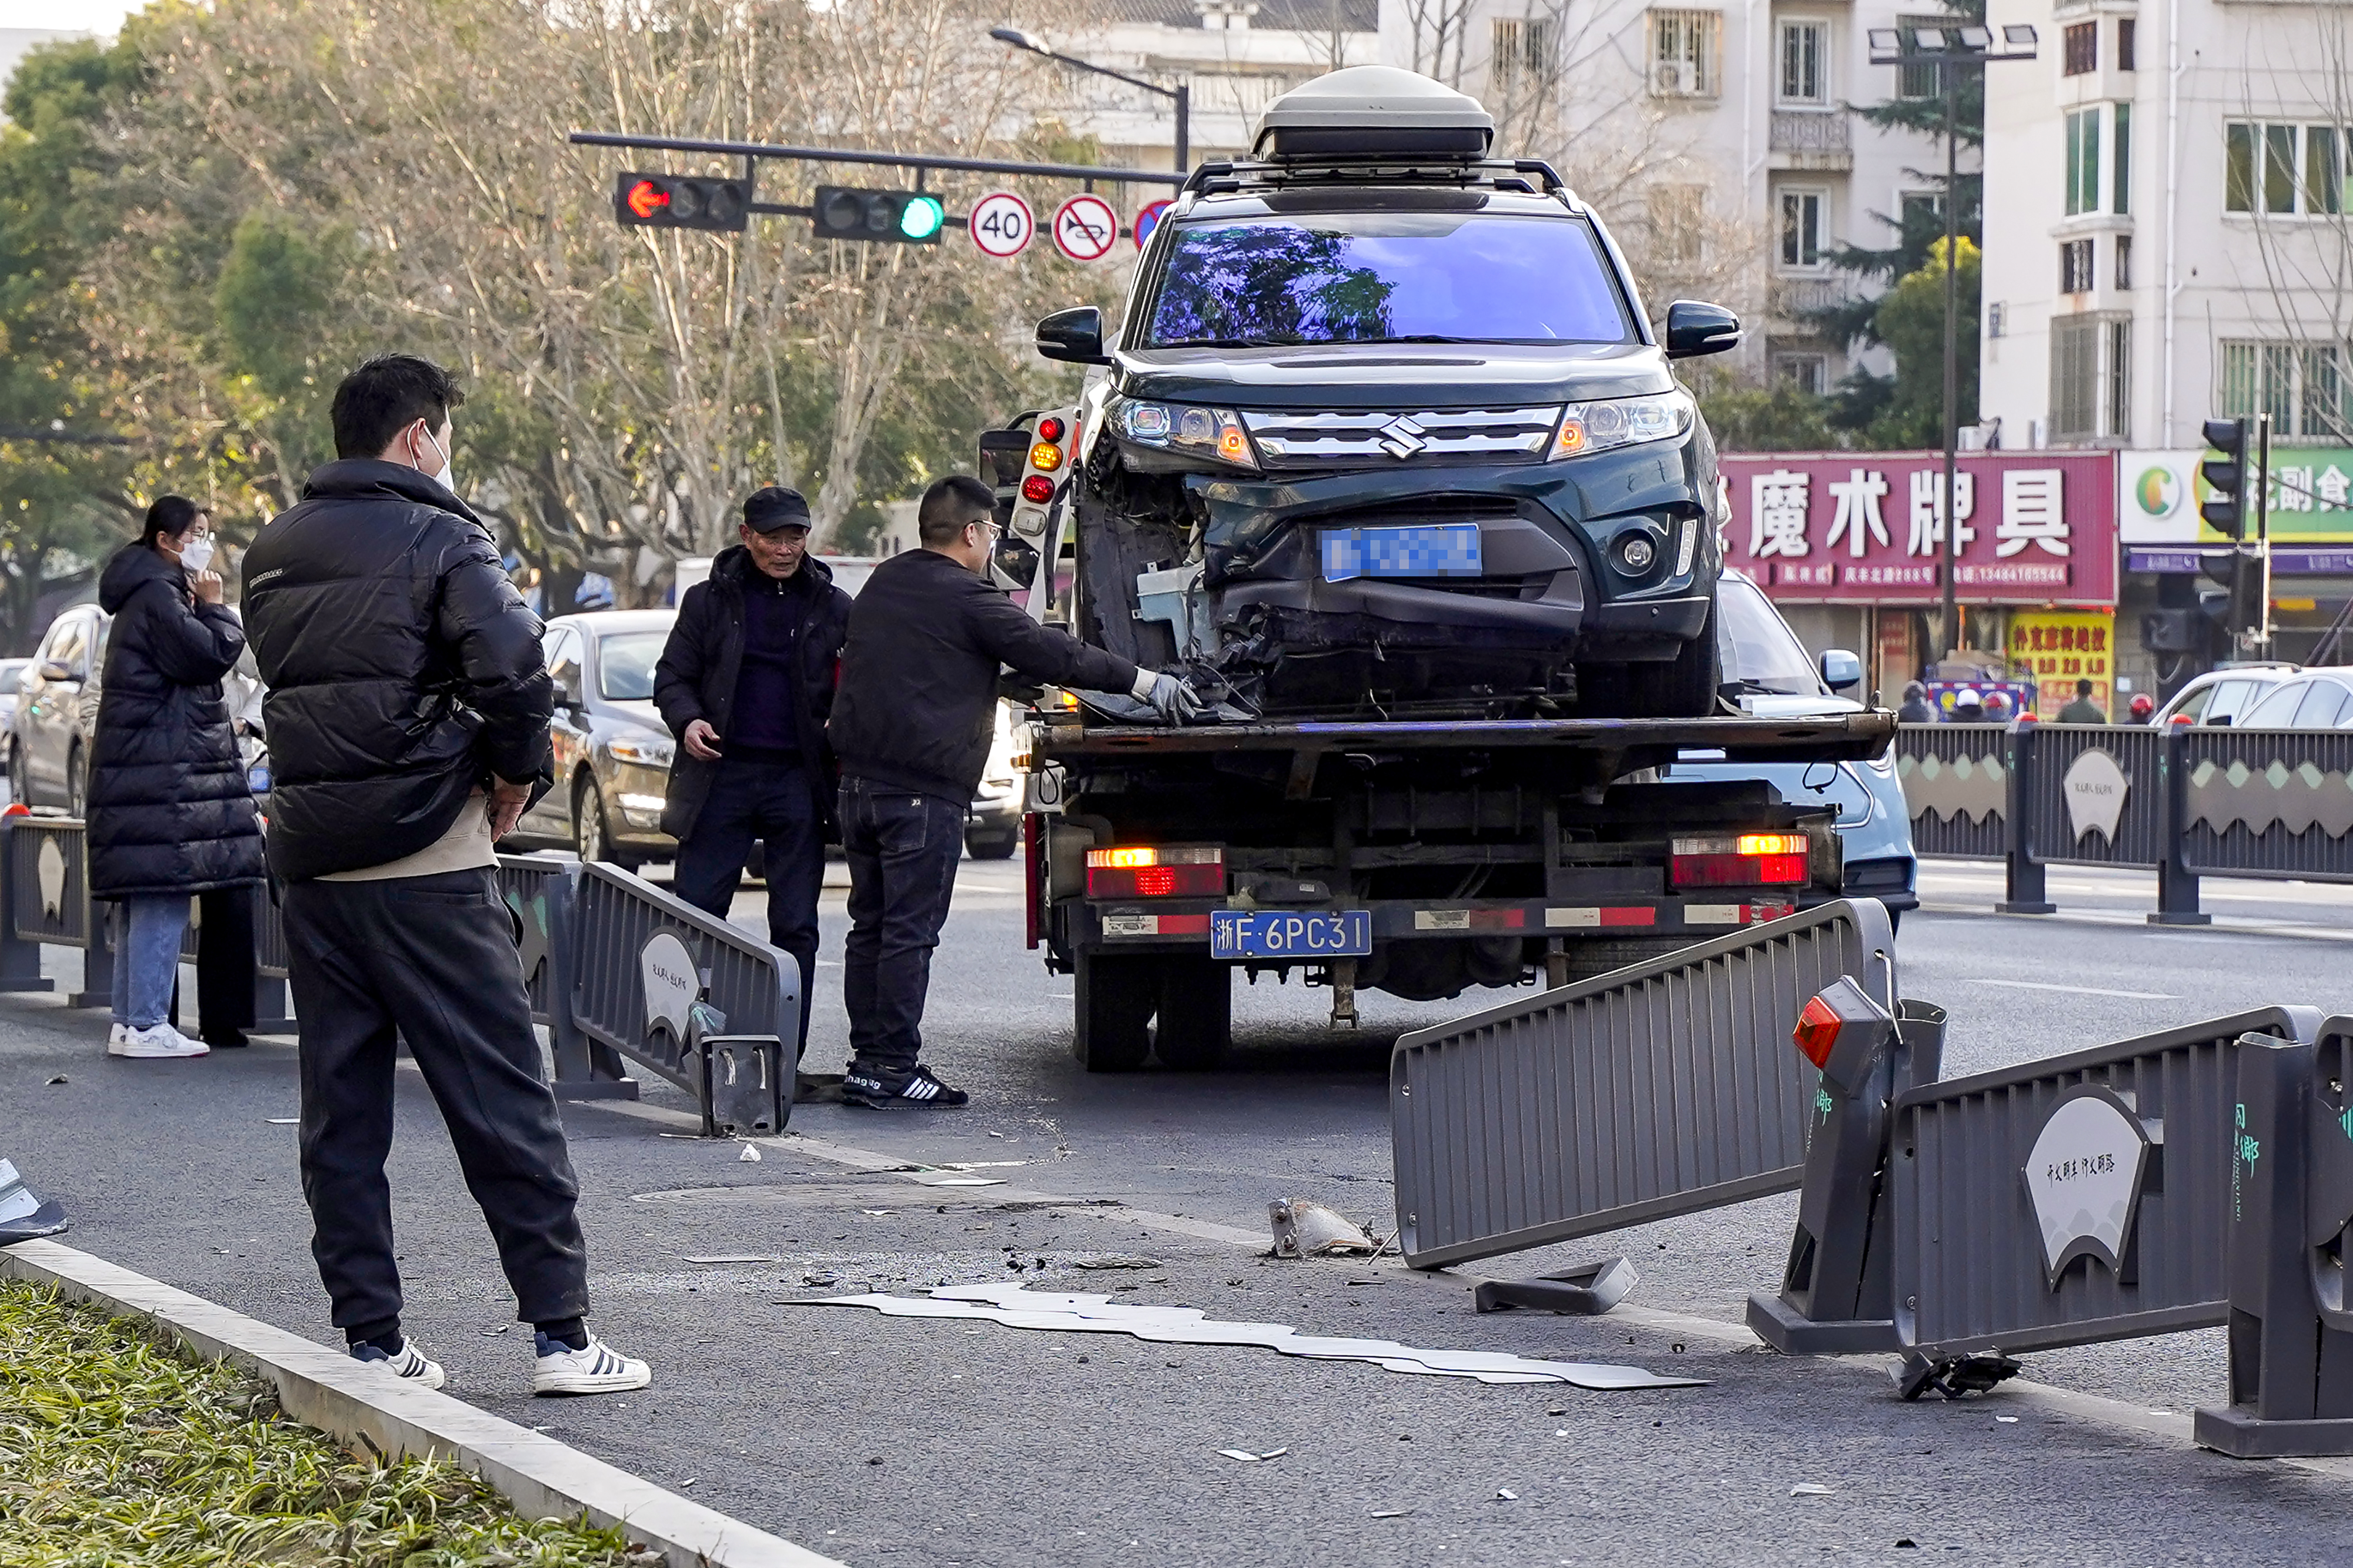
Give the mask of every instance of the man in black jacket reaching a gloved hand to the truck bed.
[[1038, 625], [981, 571], [995, 496], [967, 475], [922, 494], [922, 548], [875, 567], [849, 611], [842, 689], [826, 733], [842, 759], [849, 940], [842, 1001], [854, 1105], [965, 1105], [915, 1058], [932, 950], [955, 893], [965, 811], [988, 766], [998, 668], [1078, 691], [1132, 691], [1162, 717], [1195, 712], [1174, 675]]

